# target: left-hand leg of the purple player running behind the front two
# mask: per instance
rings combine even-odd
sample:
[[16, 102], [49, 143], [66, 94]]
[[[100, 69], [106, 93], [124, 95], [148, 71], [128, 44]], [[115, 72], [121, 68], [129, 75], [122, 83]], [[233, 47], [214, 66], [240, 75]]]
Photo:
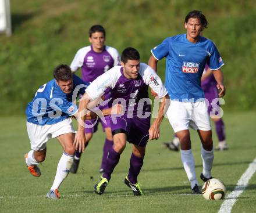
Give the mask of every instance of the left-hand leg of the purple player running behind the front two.
[[[84, 128], [84, 133], [86, 134], [86, 142], [84, 144], [85, 149], [88, 146], [88, 143], [93, 138], [93, 133], [98, 129], [98, 119], [86, 120], [86, 128]], [[76, 150], [74, 153], [74, 161], [72, 167], [70, 168], [70, 172], [76, 174], [77, 169], [79, 168], [81, 154], [79, 150]]]

